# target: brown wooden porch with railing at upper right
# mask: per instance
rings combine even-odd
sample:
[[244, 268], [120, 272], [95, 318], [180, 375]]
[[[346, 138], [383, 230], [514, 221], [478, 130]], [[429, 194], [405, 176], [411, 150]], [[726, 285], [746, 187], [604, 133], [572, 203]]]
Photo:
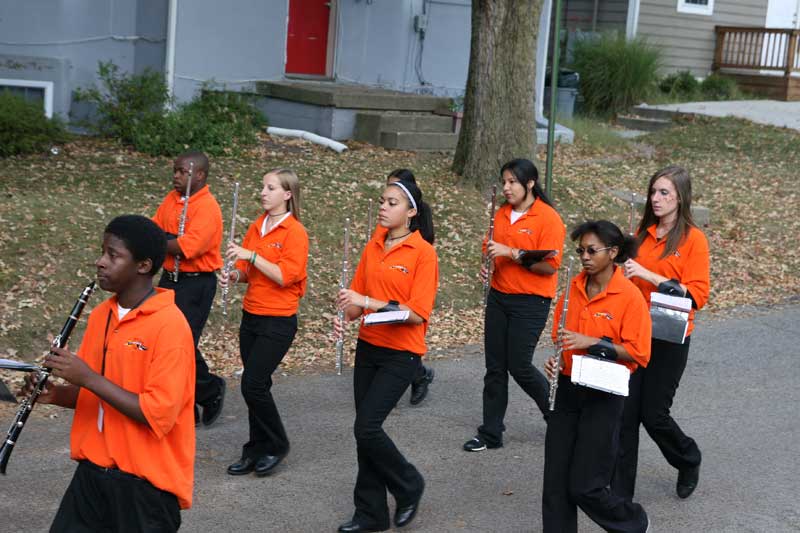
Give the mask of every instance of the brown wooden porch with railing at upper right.
[[749, 92], [800, 100], [800, 30], [715, 26], [712, 70]]

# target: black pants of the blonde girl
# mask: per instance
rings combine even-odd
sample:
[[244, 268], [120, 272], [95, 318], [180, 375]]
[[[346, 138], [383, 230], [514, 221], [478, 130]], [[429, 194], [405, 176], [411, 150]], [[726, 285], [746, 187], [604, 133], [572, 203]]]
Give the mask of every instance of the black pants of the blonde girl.
[[247, 403], [250, 438], [242, 457], [285, 455], [289, 438], [272, 398], [272, 373], [297, 333], [297, 315], [261, 316], [242, 311], [239, 350], [244, 363], [242, 396]]

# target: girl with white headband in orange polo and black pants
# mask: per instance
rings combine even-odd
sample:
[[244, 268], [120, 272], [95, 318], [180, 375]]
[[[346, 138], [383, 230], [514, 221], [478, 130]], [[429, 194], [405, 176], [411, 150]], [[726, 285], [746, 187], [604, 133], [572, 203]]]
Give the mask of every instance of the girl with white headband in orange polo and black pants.
[[[375, 311], [406, 310], [403, 323], [359, 329], [353, 390], [358, 475], [355, 513], [339, 531], [355, 533], [389, 528], [386, 491], [394, 496], [394, 523], [403, 527], [417, 513], [425, 488], [422, 474], [409, 463], [383, 430], [383, 422], [411, 384], [426, 351], [425, 333], [439, 279], [430, 207], [409, 181], [386, 186], [380, 198], [379, 223], [386, 232], [366, 245], [350, 289], [342, 289], [337, 307], [345, 320]], [[343, 324], [334, 320], [336, 335]]]

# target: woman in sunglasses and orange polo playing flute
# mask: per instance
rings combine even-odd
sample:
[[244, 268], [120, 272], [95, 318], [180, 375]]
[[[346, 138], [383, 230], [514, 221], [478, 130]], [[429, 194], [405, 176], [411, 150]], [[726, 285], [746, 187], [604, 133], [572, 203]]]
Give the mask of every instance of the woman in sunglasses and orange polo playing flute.
[[625, 279], [623, 263], [635, 251], [633, 237], [605, 220], [585, 222], [570, 235], [578, 241], [583, 271], [568, 283], [570, 305], [564, 331], [558, 324], [562, 295], [553, 317], [553, 340], [564, 350], [563, 368], [548, 359], [545, 373], [558, 375], [555, 410], [545, 438], [542, 523], [545, 533], [575, 532], [577, 507], [606, 531], [644, 532], [649, 521], [630, 497], [608, 486], [618, 454], [618, 431], [625, 398], [573, 384], [572, 356], [589, 353], [634, 371], [650, 356], [650, 315], [636, 286]]

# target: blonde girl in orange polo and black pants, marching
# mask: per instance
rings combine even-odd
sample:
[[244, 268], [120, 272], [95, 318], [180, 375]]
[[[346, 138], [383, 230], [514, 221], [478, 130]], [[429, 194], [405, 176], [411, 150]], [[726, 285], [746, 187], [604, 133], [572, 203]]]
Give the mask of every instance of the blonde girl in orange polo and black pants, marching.
[[264, 175], [264, 213], [244, 237], [228, 245], [236, 260], [228, 282], [247, 283], [239, 350], [244, 364], [242, 395], [247, 403], [250, 435], [241, 459], [228, 474], [266, 476], [289, 453], [289, 438], [272, 398], [272, 373], [297, 333], [297, 308], [306, 292], [308, 234], [300, 223], [300, 181], [291, 170]]

